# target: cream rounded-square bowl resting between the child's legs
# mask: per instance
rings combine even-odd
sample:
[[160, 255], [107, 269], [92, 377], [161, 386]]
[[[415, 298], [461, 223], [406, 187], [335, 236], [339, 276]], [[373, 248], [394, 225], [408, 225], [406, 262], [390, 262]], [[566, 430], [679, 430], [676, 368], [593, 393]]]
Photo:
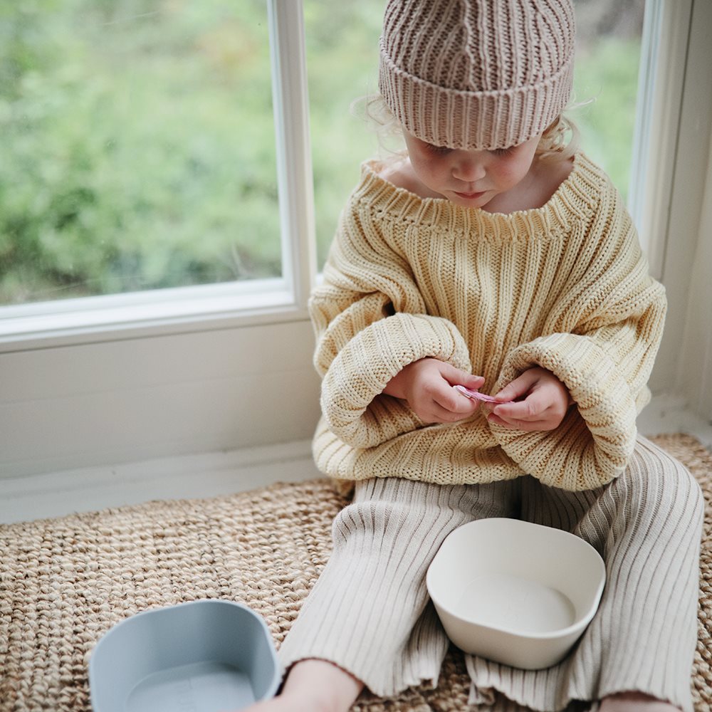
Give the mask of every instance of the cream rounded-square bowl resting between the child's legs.
[[535, 670], [566, 656], [594, 617], [605, 578], [602, 558], [582, 538], [491, 518], [454, 530], [426, 583], [456, 646]]

